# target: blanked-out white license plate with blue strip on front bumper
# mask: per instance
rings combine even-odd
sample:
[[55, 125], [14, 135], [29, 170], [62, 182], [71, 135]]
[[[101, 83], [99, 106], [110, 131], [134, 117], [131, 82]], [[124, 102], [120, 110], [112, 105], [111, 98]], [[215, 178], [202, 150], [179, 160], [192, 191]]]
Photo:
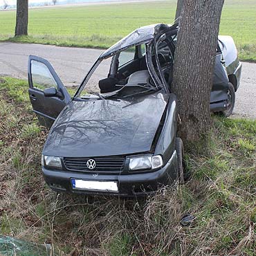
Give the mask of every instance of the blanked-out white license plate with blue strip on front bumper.
[[75, 190], [118, 192], [117, 181], [84, 181], [71, 179], [71, 185]]

